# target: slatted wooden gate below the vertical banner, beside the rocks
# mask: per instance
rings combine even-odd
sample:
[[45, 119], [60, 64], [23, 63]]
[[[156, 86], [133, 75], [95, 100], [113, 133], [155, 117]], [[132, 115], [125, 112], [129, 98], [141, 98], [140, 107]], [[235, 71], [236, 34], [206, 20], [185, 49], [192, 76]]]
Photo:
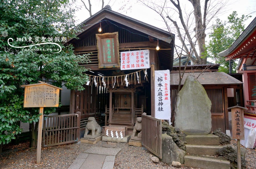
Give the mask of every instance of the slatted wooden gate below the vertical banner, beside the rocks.
[[162, 159], [162, 121], [142, 114], [142, 146]]

